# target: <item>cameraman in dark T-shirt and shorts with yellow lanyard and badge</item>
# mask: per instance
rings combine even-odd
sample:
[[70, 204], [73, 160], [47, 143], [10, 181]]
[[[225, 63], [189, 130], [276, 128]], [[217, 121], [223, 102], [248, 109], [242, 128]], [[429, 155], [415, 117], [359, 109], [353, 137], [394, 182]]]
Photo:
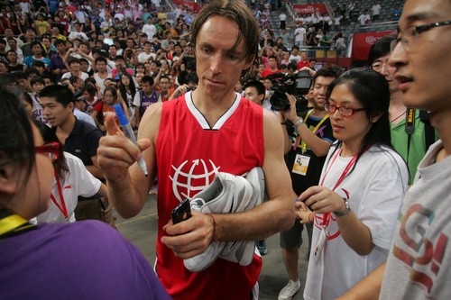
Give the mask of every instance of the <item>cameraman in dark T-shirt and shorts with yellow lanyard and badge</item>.
[[[285, 141], [290, 143], [290, 145], [286, 145], [290, 146], [290, 151], [285, 156], [285, 162], [290, 171], [292, 188], [296, 195], [300, 195], [310, 186], [318, 185], [327, 152], [334, 141], [329, 114], [325, 111], [324, 105], [326, 104], [327, 86], [339, 76], [340, 71], [335, 66], [318, 70], [312, 83], [314, 107], [308, 110], [303, 117], [299, 117], [297, 113], [297, 100], [294, 95], [287, 94], [290, 108], [281, 110], [289, 135], [289, 139], [285, 139]], [[312, 225], [306, 226], [309, 250]], [[302, 224], [295, 222], [288, 231], [281, 232], [282, 258], [290, 282], [281, 289], [279, 299], [290, 299], [299, 290], [298, 249], [302, 244], [302, 230]]]

